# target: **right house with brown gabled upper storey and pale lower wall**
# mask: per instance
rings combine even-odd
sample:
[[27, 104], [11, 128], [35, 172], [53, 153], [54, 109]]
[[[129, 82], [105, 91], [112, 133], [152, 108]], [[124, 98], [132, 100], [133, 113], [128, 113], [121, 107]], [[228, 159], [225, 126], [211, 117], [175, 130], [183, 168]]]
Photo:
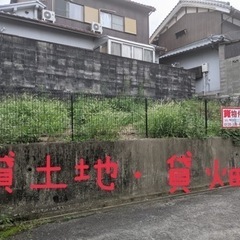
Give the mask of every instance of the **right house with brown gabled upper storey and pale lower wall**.
[[166, 49], [160, 63], [196, 73], [197, 93], [227, 94], [220, 68], [230, 50], [224, 46], [237, 39], [240, 11], [228, 2], [180, 0], [152, 34], [150, 43]]

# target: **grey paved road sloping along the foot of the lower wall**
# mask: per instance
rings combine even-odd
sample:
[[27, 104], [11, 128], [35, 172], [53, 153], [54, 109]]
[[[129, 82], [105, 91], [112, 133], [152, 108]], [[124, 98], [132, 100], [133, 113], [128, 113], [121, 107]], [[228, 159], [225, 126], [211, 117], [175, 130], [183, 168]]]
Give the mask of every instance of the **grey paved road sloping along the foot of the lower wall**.
[[41, 226], [13, 239], [239, 240], [240, 188], [119, 207]]

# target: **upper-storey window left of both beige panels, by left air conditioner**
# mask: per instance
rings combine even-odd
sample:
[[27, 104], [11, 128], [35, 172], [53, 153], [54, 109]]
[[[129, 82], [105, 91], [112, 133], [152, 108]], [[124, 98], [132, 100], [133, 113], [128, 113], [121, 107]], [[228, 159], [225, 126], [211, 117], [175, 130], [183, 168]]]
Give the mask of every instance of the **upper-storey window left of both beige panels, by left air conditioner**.
[[55, 0], [54, 9], [57, 15], [83, 21], [83, 6], [65, 0]]

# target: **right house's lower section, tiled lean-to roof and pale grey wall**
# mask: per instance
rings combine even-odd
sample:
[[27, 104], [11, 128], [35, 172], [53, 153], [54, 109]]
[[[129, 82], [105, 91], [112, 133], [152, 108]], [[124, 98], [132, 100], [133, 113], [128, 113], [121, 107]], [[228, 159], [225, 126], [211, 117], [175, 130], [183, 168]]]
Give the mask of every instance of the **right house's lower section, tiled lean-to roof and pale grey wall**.
[[197, 94], [221, 94], [219, 44], [227, 41], [224, 35], [213, 35], [169, 51], [159, 62], [194, 71]]

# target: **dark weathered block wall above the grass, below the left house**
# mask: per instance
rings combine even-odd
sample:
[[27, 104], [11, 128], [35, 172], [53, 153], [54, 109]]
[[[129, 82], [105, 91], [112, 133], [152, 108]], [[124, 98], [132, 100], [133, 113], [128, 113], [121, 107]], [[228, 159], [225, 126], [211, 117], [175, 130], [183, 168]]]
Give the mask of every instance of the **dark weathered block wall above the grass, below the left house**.
[[184, 69], [6, 34], [0, 56], [0, 86], [170, 98], [195, 90]]

